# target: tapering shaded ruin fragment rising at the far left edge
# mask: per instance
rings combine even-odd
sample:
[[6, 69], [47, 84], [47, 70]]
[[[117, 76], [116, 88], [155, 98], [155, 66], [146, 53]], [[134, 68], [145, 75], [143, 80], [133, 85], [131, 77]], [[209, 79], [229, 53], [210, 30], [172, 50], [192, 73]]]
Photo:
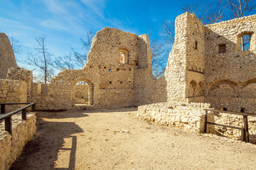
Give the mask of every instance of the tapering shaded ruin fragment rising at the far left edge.
[[6, 34], [0, 33], [0, 79], [6, 79], [9, 68], [17, 67], [14, 51]]

